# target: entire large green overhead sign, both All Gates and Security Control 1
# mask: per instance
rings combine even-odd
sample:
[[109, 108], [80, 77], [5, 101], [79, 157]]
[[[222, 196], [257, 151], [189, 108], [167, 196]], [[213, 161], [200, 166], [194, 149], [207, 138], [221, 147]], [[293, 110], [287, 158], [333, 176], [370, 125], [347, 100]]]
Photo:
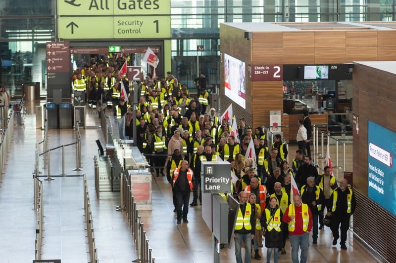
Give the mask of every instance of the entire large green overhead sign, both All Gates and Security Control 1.
[[171, 36], [170, 0], [58, 0], [58, 14], [63, 39]]

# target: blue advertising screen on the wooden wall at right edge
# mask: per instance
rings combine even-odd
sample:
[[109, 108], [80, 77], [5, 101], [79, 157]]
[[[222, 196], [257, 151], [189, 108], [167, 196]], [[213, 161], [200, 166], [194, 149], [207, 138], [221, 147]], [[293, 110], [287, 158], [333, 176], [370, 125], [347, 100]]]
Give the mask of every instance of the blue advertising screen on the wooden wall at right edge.
[[368, 121], [368, 197], [396, 216], [396, 133]]

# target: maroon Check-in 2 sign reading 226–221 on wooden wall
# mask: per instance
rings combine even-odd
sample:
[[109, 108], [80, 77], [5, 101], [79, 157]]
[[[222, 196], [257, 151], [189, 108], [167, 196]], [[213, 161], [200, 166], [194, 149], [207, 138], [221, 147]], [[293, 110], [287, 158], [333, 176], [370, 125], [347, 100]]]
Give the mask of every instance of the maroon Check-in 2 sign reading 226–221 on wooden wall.
[[283, 80], [283, 65], [251, 65], [249, 71], [252, 81]]

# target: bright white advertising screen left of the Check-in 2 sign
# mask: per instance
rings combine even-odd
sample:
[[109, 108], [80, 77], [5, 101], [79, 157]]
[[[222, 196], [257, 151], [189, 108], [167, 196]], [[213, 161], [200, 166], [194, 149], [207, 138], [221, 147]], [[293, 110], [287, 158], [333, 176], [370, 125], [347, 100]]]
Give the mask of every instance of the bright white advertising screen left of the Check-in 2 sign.
[[228, 54], [224, 54], [224, 93], [246, 109], [246, 64]]

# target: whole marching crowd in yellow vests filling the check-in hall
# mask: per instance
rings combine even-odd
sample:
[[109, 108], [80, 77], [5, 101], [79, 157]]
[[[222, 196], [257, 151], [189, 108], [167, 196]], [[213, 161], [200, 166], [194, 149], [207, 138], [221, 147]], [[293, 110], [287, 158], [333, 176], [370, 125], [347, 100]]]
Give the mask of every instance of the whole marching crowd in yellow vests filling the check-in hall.
[[[266, 262], [270, 262], [272, 254], [274, 262], [278, 262], [280, 254], [286, 254], [285, 244], [289, 238], [293, 263], [305, 263], [309, 232], [312, 231], [312, 244], [317, 244], [319, 230], [329, 219], [333, 245], [337, 245], [341, 224], [340, 244], [342, 249], [347, 249], [347, 229], [356, 206], [355, 195], [347, 188], [345, 179], [338, 186], [330, 167], [326, 166], [324, 174], [319, 175], [312, 164], [307, 112], [303, 112], [299, 121], [298, 150], [290, 165], [288, 148], [281, 135], [274, 136], [269, 148], [262, 128], [253, 130], [243, 117], [238, 119], [238, 137], [231, 135], [230, 120], [219, 119], [216, 110], [210, 108], [203, 73], [195, 80], [197, 95], [191, 94], [187, 85], [181, 84], [171, 72], [166, 77], [146, 75], [141, 81], [136, 119], [133, 119], [129, 102], [120, 100], [121, 83], [129, 91], [127, 79], [118, 74], [123, 59], [100, 62], [94, 59], [76, 73], [73, 83], [78, 87], [84, 79], [89, 87], [91, 107], [104, 102], [113, 108], [117, 105], [115, 115], [125, 116], [126, 136], [132, 138], [133, 126], [136, 126], [137, 146], [147, 156], [153, 175], [166, 176], [172, 188], [177, 224], [182, 220], [188, 223], [189, 206], [202, 204], [201, 163], [222, 159], [230, 163], [231, 171], [238, 178], [231, 186], [231, 194], [240, 202], [234, 234], [238, 263], [242, 263], [242, 243], [246, 250], [245, 263], [251, 258], [261, 260], [262, 236], [267, 248]], [[250, 141], [256, 159], [246, 156]], [[292, 179], [297, 182], [300, 193], [293, 196]]]

